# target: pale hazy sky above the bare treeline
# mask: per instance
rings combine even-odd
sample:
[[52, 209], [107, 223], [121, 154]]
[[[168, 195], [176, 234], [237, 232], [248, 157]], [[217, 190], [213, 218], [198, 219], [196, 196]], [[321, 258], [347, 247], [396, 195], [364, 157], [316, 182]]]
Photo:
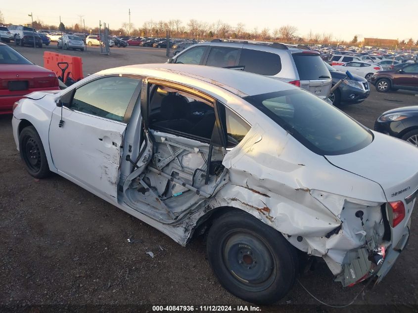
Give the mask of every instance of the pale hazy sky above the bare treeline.
[[[418, 0], [72, 0], [61, 7], [55, 3], [40, 5], [38, 1], [1, 1], [0, 11], [6, 23], [30, 23], [28, 14], [46, 24], [79, 23], [84, 15], [86, 26], [97, 27], [99, 20], [118, 29], [129, 21], [140, 27], [152, 19], [180, 19], [186, 26], [190, 19], [209, 24], [221, 19], [236, 26], [245, 24], [246, 30], [268, 27], [271, 31], [282, 25], [298, 28], [298, 35], [332, 33], [335, 40], [350, 41], [373, 37], [384, 39], [418, 40]], [[402, 5], [400, 5], [402, 3]], [[25, 9], [23, 9], [25, 8]], [[27, 12], [26, 12], [27, 11]]]

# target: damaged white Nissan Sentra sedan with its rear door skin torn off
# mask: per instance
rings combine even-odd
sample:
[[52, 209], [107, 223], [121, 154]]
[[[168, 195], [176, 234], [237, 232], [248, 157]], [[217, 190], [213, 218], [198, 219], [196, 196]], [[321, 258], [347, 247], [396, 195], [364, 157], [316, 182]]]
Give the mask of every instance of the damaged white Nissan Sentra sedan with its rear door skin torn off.
[[351, 286], [380, 281], [408, 241], [417, 148], [271, 78], [114, 68], [27, 95], [12, 124], [32, 176], [57, 173], [183, 246], [208, 231], [220, 282], [253, 303], [289, 291], [301, 252]]

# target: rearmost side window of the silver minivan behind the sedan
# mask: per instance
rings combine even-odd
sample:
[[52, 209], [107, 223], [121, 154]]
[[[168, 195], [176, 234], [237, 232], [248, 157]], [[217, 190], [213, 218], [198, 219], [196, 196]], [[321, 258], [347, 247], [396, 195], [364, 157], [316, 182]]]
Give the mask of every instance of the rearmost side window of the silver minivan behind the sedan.
[[245, 72], [273, 76], [281, 70], [280, 56], [275, 53], [242, 49], [239, 65]]

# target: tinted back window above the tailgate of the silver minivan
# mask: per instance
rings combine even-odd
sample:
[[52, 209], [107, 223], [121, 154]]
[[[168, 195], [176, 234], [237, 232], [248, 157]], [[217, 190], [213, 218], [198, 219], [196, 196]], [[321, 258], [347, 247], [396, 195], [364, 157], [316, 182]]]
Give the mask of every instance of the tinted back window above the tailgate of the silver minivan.
[[324, 61], [319, 55], [292, 54], [292, 56], [301, 81], [331, 78]]

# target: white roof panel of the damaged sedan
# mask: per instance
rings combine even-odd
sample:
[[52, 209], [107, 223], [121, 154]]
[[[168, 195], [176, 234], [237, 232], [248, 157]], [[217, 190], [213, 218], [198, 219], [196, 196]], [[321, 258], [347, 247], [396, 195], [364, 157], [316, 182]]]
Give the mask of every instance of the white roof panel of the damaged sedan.
[[226, 89], [240, 97], [279, 90], [297, 89], [291, 84], [263, 75], [190, 64], [138, 64], [107, 69], [96, 74], [124, 73], [162, 78], [188, 86], [199, 86], [202, 82], [205, 82]]

